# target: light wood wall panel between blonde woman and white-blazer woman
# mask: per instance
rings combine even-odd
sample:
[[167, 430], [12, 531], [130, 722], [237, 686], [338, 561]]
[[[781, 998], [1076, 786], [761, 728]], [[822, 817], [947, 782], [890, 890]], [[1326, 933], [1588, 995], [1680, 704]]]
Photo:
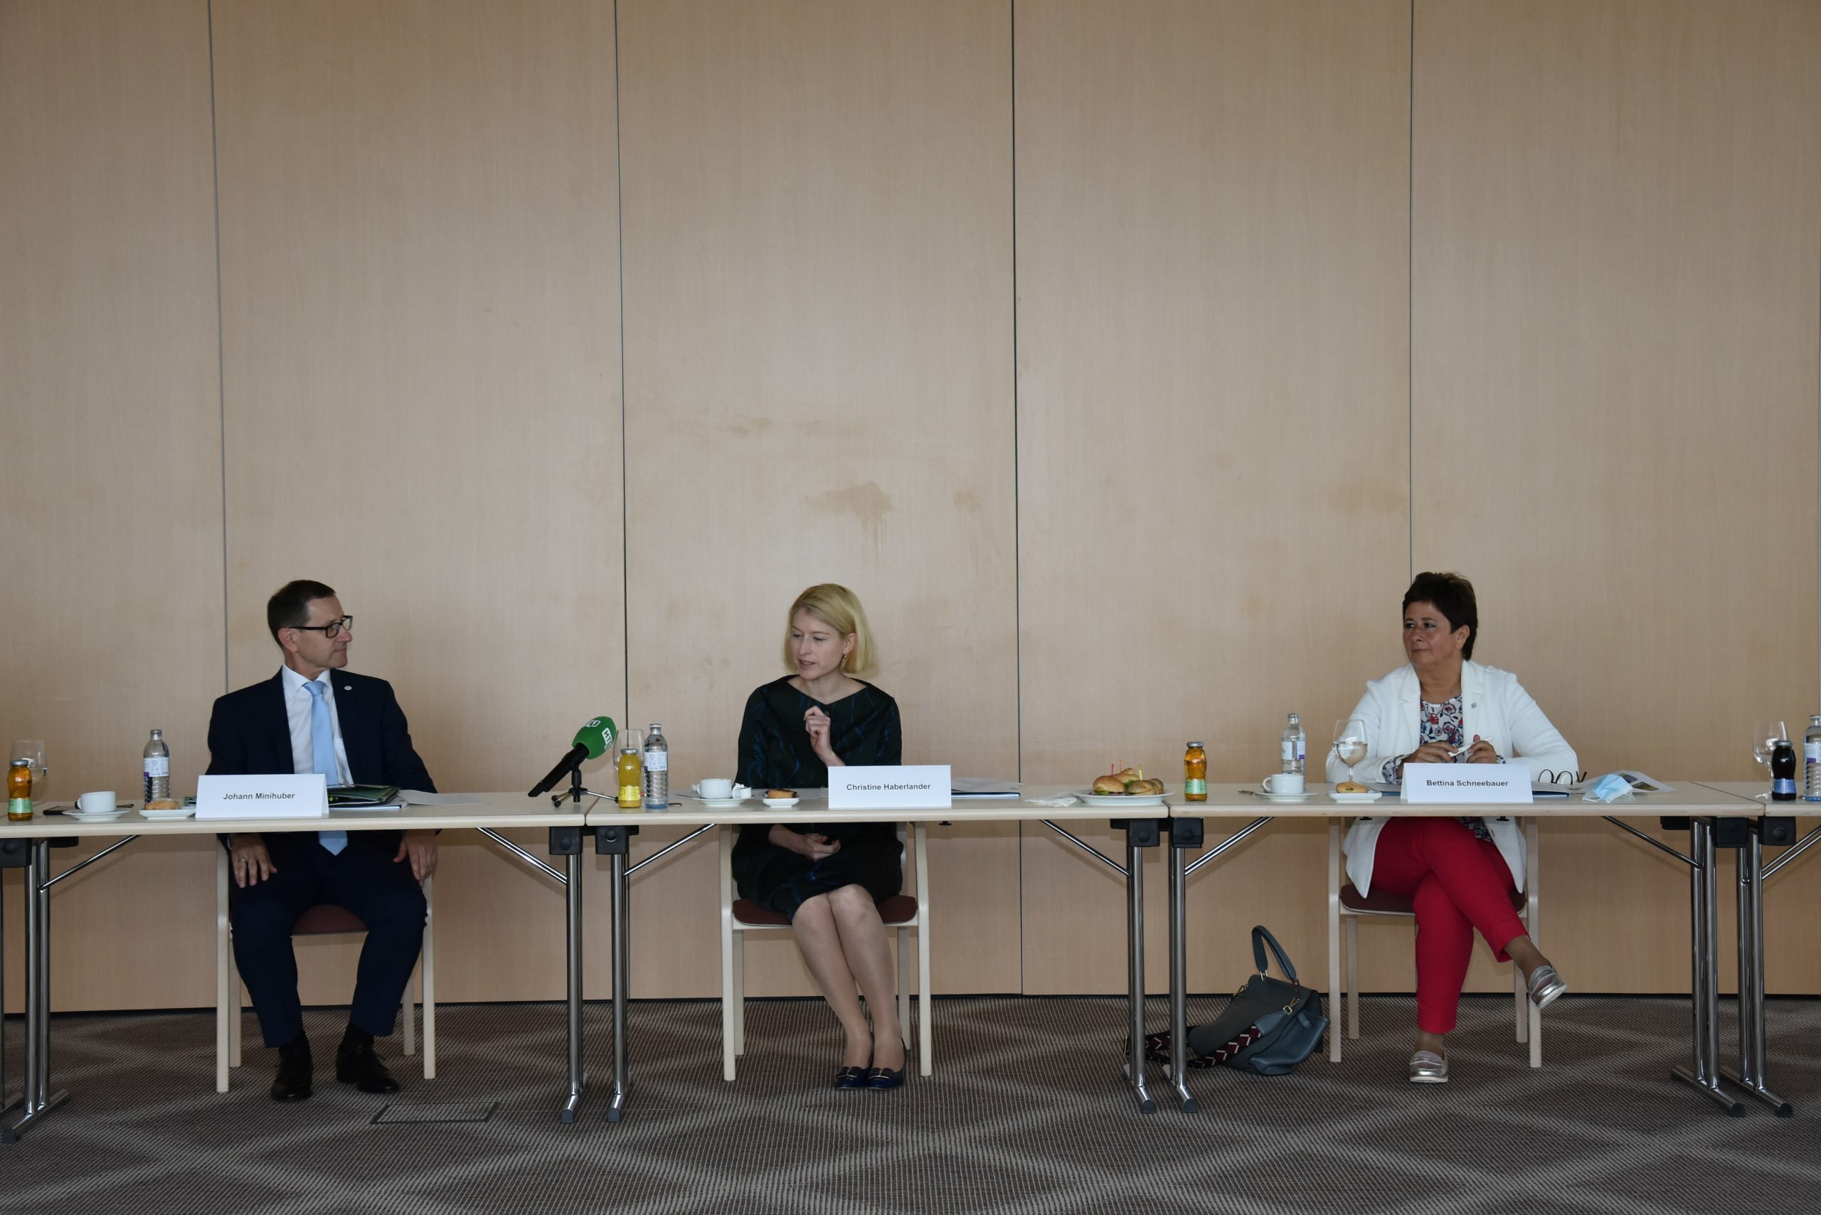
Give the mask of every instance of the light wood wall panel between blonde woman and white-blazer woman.
[[[1043, 2], [1016, 36], [1023, 776], [1176, 789], [1195, 738], [1255, 778], [1289, 709], [1318, 761], [1406, 577], [1408, 5]], [[1320, 924], [1326, 836], [1273, 831], [1195, 883], [1193, 985], [1260, 907], [1317, 956], [1278, 909]], [[1124, 987], [1089, 873], [1027, 832], [1027, 991]]]

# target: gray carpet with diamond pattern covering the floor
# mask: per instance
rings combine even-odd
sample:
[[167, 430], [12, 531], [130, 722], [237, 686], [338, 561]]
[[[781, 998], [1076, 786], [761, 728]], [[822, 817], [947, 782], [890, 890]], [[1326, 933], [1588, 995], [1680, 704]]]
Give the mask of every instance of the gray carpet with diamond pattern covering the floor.
[[[1196, 1000], [1191, 1020], [1218, 1000]], [[71, 1104], [0, 1148], [0, 1210], [237, 1211], [1670, 1211], [1821, 1204], [1821, 1002], [1770, 1006], [1772, 1087], [1794, 1118], [1726, 1118], [1668, 1080], [1688, 1002], [1568, 998], [1544, 1016], [1544, 1066], [1511, 1040], [1510, 996], [1470, 998], [1448, 1086], [1404, 1080], [1413, 1002], [1369, 998], [1340, 1066], [1289, 1077], [1196, 1071], [1204, 1113], [1142, 1117], [1118, 1078], [1122, 1000], [936, 1004], [936, 1075], [892, 1093], [827, 1087], [836, 1029], [819, 1002], [747, 1006], [739, 1080], [723, 1084], [719, 1006], [632, 1009], [634, 1095], [601, 1087], [555, 1118], [563, 1009], [439, 1011], [439, 1078], [392, 1098], [333, 1082], [344, 1013], [310, 1015], [317, 1097], [266, 1097], [249, 1040], [213, 1091], [208, 1013], [69, 1015], [55, 1024]], [[1151, 1026], [1165, 1007], [1151, 1004]], [[251, 1018], [248, 1020], [251, 1033]], [[1735, 1036], [1724, 1026], [1723, 1049]], [[7, 1022], [18, 1086], [18, 1018]], [[590, 1075], [610, 1018], [588, 1007]], [[1155, 1069], [1153, 1069], [1155, 1073]], [[1153, 1075], [1162, 1093], [1162, 1077]], [[481, 1122], [450, 1118], [484, 1117]], [[379, 1118], [375, 1122], [375, 1118]], [[402, 1122], [401, 1122], [402, 1118]], [[433, 1118], [433, 1120], [415, 1120]]]

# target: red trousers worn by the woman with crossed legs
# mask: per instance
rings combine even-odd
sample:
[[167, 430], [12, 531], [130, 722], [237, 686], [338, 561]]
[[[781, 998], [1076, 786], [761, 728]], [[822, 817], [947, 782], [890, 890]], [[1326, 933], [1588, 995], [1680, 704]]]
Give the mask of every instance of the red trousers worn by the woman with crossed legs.
[[1473, 929], [1501, 962], [1510, 962], [1504, 947], [1524, 934], [1499, 845], [1453, 818], [1393, 818], [1378, 832], [1371, 883], [1417, 905], [1417, 1027], [1448, 1033], [1468, 980]]

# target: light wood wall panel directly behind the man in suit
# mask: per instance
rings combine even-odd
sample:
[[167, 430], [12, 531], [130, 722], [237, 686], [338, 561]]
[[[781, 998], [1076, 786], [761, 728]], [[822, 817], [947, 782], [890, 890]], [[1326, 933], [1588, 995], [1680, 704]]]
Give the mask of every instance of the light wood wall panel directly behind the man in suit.
[[[528, 789], [625, 687], [612, 9], [229, 0], [215, 55], [229, 683], [319, 577], [437, 781]], [[444, 998], [559, 993], [561, 898], [446, 843]]]

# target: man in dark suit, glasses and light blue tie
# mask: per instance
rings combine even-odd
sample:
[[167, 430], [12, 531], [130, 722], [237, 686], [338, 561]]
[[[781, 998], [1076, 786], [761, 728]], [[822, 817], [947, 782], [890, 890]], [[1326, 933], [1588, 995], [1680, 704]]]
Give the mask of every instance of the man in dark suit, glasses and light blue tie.
[[[284, 656], [271, 679], [229, 692], [209, 716], [209, 774], [322, 772], [330, 785], [399, 785], [435, 792], [412, 749], [404, 712], [384, 679], [348, 674], [351, 618], [322, 583], [293, 581], [266, 603]], [[430, 831], [273, 831], [229, 840], [233, 956], [266, 1046], [279, 1047], [273, 1100], [311, 1093], [310, 1040], [297, 998], [291, 927], [315, 904], [366, 924], [366, 944], [335, 1051], [335, 1078], [362, 1093], [399, 1082], [373, 1053], [392, 1033], [424, 938], [424, 893], [435, 873]]]

